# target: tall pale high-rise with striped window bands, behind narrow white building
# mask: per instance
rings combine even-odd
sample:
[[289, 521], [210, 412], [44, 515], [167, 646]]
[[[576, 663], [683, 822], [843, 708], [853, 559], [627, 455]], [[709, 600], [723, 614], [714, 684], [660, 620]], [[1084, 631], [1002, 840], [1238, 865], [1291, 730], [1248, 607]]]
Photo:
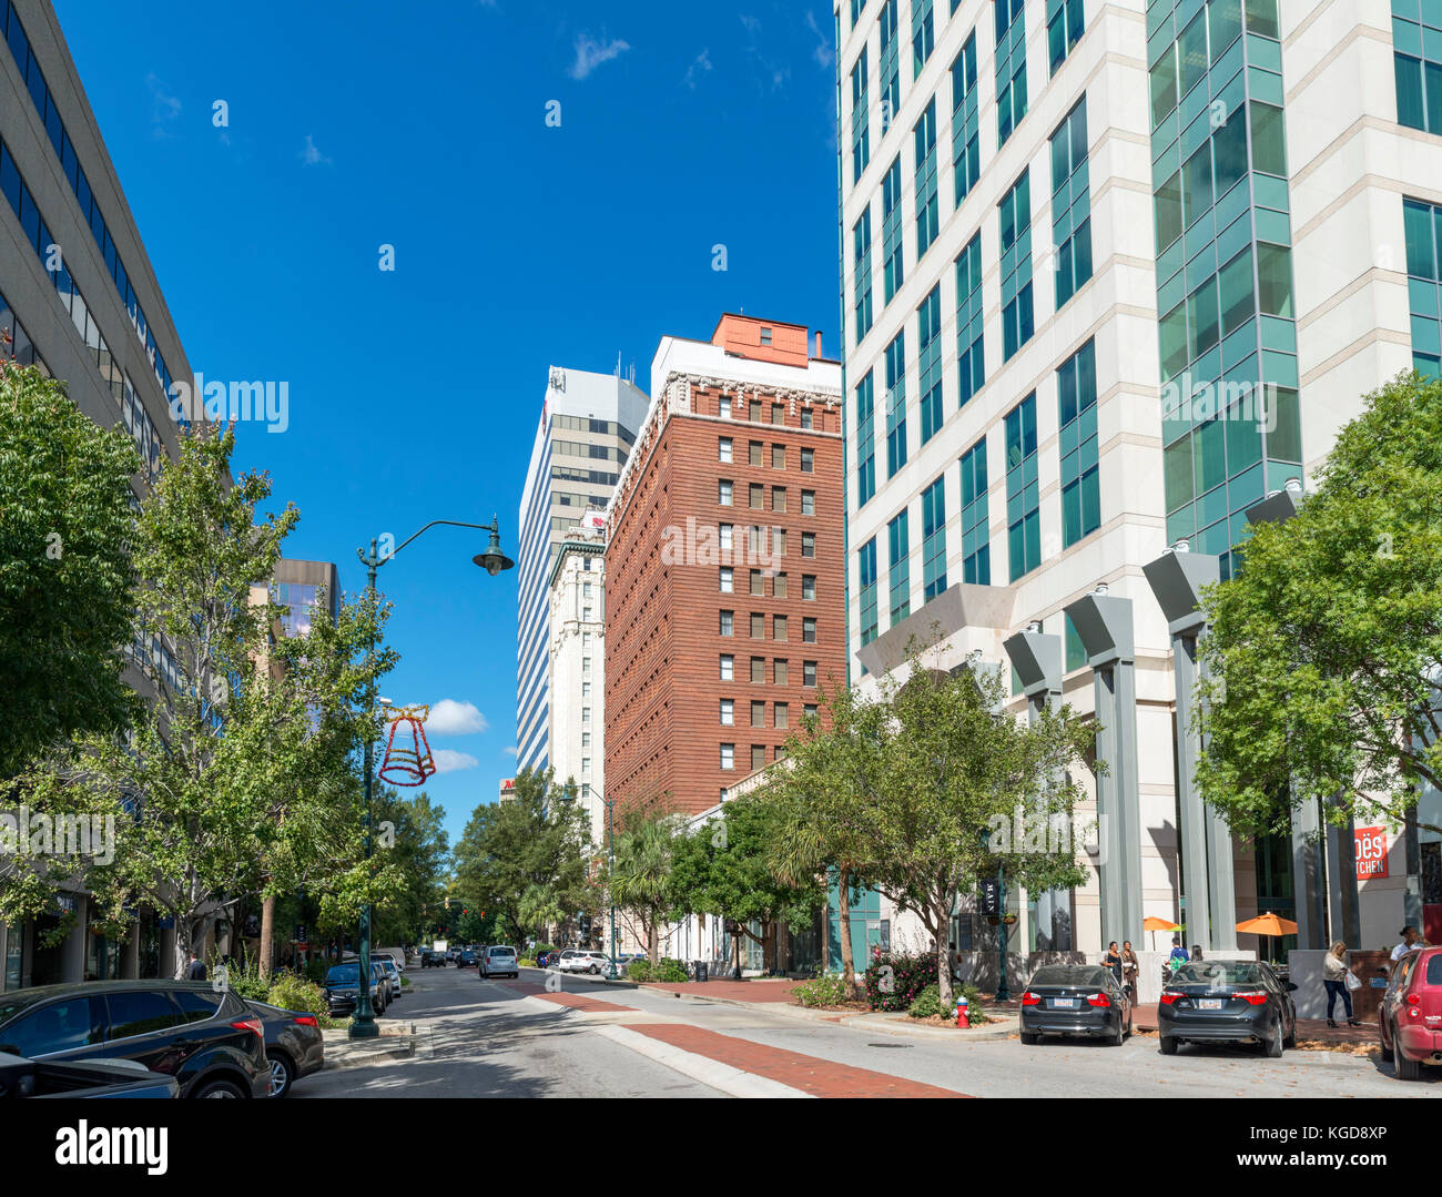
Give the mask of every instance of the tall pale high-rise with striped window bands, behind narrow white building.
[[551, 764], [551, 571], [561, 541], [588, 509], [604, 511], [646, 397], [620, 374], [551, 366], [521, 492], [516, 636], [516, 769]]

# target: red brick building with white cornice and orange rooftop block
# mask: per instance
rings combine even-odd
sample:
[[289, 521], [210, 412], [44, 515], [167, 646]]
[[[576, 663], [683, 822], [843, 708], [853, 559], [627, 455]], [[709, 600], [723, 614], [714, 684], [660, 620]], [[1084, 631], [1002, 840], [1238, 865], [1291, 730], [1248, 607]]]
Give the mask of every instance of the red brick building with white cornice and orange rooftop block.
[[696, 813], [846, 681], [841, 366], [805, 326], [665, 337], [609, 511], [606, 782]]

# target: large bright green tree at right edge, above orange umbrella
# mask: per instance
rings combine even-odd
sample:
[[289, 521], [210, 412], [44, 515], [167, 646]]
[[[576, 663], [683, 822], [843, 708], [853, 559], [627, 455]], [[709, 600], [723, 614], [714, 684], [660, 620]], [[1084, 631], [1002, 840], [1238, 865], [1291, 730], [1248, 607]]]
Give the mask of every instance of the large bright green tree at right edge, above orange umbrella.
[[1318, 479], [1206, 596], [1203, 796], [1243, 835], [1318, 798], [1337, 825], [1442, 831], [1416, 819], [1442, 786], [1442, 384], [1367, 395]]

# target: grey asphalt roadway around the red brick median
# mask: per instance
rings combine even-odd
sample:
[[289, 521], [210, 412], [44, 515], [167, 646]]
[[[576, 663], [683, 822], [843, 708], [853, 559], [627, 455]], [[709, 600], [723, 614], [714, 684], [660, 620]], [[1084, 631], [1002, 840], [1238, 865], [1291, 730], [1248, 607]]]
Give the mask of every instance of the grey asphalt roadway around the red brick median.
[[[685, 1022], [773, 1048], [868, 1069], [979, 1097], [1438, 1097], [1442, 1074], [1403, 1083], [1392, 1067], [1309, 1051], [1266, 1060], [1249, 1048], [1158, 1051], [1155, 1037], [1122, 1047], [1019, 1040], [956, 1044], [880, 1034], [770, 1011], [681, 1001], [627, 985], [565, 976], [568, 994], [632, 1007], [634, 1014], [548, 1011], [505, 982], [474, 971], [411, 969], [414, 988], [391, 1007], [425, 1024], [428, 1050], [412, 1059], [326, 1070], [294, 1096], [724, 1096], [603, 1037], [614, 1022]], [[523, 981], [544, 984], [526, 969]], [[708, 1077], [709, 1079], [709, 1077]]]

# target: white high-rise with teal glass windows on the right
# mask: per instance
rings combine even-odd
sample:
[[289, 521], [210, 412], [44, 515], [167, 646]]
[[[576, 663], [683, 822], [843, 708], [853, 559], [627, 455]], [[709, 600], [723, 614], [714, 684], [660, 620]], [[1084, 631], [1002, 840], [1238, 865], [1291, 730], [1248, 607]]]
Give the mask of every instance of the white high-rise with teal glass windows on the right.
[[[1096, 874], [1014, 893], [1012, 950], [1094, 950], [1106, 927], [1136, 942], [1142, 913], [1197, 909], [1197, 873], [1216, 883], [1214, 942], [1237, 943], [1233, 913], [1298, 917], [1318, 884], [1301, 838], [1216, 838], [1178, 880], [1184, 662], [1144, 567], [1175, 547], [1227, 577], [1249, 511], [1311, 485], [1367, 391], [1438, 374], [1442, 9], [835, 13], [854, 676], [901, 668], [908, 636], [940, 624], [949, 662], [1012, 676], [1018, 712], [1050, 697], [1126, 733], [1089, 806], [1128, 828], [1125, 910], [1103, 909]], [[1420, 922], [1407, 861], [1438, 848], [1405, 838], [1387, 832], [1390, 875], [1361, 884], [1360, 914], [1338, 838], [1332, 937], [1392, 942], [1405, 909]], [[981, 926], [959, 911], [952, 946]], [[1325, 930], [1312, 919], [1305, 946]]]

